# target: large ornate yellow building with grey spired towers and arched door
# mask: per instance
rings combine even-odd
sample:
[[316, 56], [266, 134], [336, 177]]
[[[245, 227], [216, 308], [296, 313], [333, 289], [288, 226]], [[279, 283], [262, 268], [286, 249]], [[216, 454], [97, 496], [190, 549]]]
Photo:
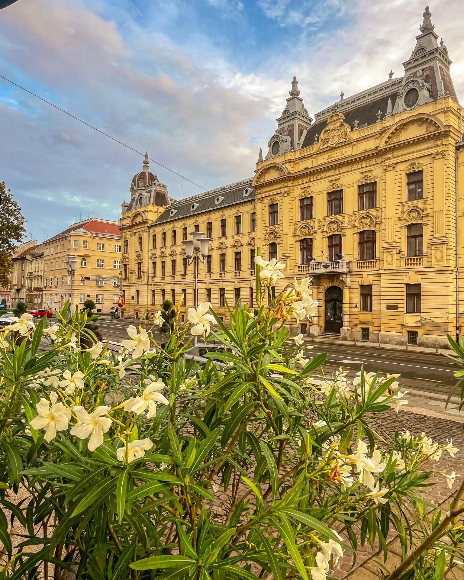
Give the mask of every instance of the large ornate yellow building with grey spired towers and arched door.
[[[310, 276], [317, 316], [292, 332], [444, 346], [464, 322], [462, 107], [428, 9], [404, 75], [340, 100], [311, 119], [293, 77], [277, 131], [253, 179], [182, 201], [148, 169], [122, 205], [125, 316], [193, 305], [182, 240], [213, 238], [200, 302], [226, 317], [253, 301], [253, 257]], [[456, 267], [459, 266], [459, 269]]]

